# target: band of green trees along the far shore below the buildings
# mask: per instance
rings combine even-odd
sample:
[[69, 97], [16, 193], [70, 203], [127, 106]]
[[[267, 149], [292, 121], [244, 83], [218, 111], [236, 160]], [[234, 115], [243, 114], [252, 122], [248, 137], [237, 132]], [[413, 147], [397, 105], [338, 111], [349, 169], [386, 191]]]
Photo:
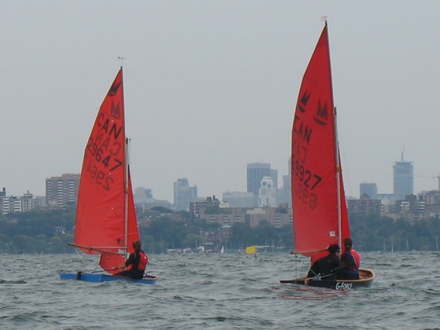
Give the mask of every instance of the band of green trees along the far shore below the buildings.
[[[140, 225], [144, 250], [148, 253], [166, 253], [168, 250], [205, 245], [204, 231], [215, 231], [218, 223], [206, 223], [189, 212], [180, 211], [179, 220], [173, 211], [153, 212], [148, 226]], [[161, 210], [163, 211], [163, 210]], [[151, 214], [160, 214], [151, 217]], [[146, 214], [142, 214], [146, 216]], [[141, 216], [141, 217], [142, 217]], [[73, 241], [75, 209], [32, 210], [5, 214], [0, 218], [0, 253], [8, 254], [65, 254], [74, 253], [67, 243]], [[393, 220], [380, 214], [350, 217], [351, 236], [358, 251], [436, 251], [439, 250], [440, 219], [430, 218], [415, 222]], [[211, 241], [213, 250], [244, 250], [250, 245], [270, 245], [272, 249], [288, 252], [293, 249], [292, 225], [275, 228], [267, 221], [250, 228], [247, 223], [234, 223], [228, 240]]]

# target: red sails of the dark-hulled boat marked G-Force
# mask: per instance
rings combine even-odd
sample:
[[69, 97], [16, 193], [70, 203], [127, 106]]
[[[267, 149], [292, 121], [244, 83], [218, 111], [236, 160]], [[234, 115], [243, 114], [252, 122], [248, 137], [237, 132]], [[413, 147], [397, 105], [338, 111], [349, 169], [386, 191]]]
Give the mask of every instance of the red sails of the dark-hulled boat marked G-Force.
[[333, 106], [327, 22], [301, 83], [292, 127], [296, 252], [316, 256], [350, 236]]

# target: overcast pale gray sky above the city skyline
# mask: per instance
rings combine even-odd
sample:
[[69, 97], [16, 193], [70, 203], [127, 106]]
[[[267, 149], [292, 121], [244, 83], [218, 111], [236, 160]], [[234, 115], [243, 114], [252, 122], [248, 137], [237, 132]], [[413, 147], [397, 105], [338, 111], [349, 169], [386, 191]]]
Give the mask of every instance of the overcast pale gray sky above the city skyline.
[[79, 173], [124, 60], [133, 186], [173, 201], [246, 190], [246, 166], [287, 174], [294, 106], [327, 16], [347, 195], [415, 192], [440, 173], [440, 1], [1, 1], [0, 186], [45, 195]]

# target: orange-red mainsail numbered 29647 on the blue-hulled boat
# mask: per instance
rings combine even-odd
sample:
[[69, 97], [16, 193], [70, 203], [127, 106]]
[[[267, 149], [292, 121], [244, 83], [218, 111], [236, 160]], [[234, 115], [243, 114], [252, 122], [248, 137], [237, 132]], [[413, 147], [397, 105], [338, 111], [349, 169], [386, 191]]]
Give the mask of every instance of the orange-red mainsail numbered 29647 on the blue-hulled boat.
[[85, 148], [76, 210], [77, 245], [112, 252], [126, 247], [125, 143], [121, 68], [101, 104]]

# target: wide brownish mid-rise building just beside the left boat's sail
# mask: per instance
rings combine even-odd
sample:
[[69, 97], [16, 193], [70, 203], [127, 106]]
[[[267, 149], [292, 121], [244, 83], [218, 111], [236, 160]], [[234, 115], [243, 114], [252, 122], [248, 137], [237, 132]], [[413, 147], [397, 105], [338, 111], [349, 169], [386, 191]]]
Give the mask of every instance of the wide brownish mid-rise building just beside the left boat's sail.
[[79, 174], [63, 174], [46, 179], [47, 205], [51, 208], [76, 205], [79, 184]]

